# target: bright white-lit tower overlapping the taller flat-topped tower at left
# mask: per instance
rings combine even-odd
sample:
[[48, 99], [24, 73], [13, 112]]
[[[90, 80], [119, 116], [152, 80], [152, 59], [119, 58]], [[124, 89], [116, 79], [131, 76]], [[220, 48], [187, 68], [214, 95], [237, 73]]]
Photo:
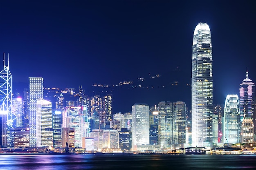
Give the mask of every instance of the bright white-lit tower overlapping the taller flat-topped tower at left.
[[36, 146], [53, 147], [52, 102], [37, 99]]

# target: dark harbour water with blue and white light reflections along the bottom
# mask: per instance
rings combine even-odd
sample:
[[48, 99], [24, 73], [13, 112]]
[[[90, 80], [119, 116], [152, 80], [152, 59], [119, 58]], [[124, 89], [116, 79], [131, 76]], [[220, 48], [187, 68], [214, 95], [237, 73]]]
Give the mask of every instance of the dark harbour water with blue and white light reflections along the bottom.
[[256, 169], [256, 155], [0, 155], [0, 170]]

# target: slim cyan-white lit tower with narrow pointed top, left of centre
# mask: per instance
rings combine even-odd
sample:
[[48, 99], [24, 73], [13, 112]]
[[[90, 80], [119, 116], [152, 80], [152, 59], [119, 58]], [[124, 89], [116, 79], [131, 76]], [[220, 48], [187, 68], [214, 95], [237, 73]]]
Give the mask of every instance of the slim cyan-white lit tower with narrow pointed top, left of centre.
[[87, 106], [82, 106], [82, 116], [83, 116], [83, 122], [82, 122], [82, 137], [90, 137], [90, 131], [91, 131], [91, 118], [87, 111]]

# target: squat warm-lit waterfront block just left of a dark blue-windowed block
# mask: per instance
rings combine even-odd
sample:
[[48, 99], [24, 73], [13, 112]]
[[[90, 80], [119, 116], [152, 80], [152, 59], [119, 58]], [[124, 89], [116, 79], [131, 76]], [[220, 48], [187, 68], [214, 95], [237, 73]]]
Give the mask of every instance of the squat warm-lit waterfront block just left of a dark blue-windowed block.
[[117, 130], [103, 130], [102, 148], [103, 149], [119, 148], [119, 133]]

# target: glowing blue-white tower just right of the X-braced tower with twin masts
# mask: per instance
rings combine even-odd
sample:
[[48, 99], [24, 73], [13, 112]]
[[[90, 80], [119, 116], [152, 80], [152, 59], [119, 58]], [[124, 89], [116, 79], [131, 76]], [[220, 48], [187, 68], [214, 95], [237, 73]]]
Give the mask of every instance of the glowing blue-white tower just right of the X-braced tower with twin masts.
[[21, 97], [12, 98], [12, 113], [16, 116], [16, 120], [13, 121], [13, 128], [23, 127], [23, 101]]

